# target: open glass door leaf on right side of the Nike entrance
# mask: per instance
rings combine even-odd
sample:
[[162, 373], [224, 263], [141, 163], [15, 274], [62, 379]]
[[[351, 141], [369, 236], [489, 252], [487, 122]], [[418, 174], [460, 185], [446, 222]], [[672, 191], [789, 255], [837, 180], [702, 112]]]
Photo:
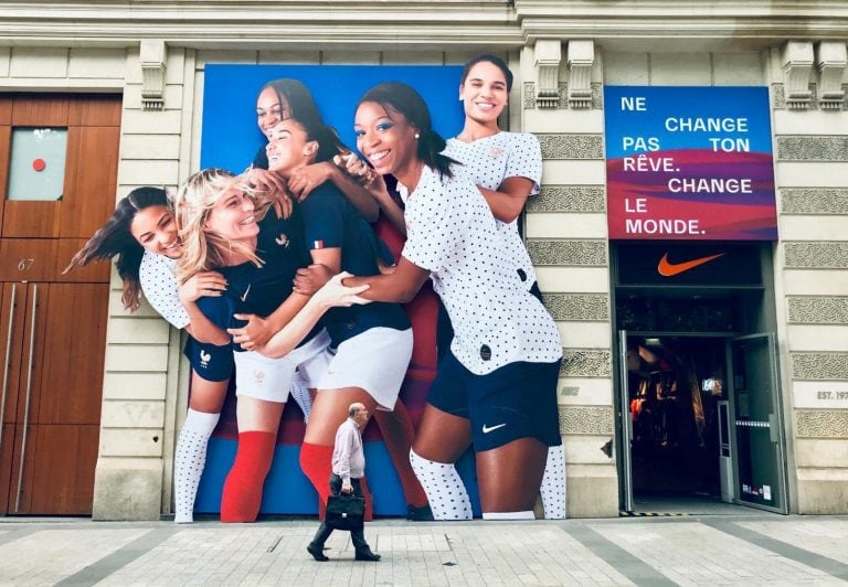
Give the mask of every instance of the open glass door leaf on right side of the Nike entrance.
[[736, 500], [745, 505], [787, 513], [774, 334], [750, 334], [728, 341], [728, 366]]

